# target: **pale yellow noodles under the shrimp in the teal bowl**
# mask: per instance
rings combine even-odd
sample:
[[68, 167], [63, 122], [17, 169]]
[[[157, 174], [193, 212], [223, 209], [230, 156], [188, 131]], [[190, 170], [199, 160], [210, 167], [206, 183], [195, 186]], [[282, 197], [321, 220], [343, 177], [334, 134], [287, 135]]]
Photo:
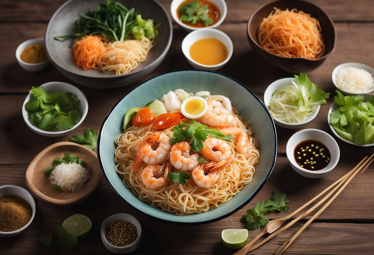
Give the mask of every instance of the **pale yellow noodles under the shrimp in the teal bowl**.
[[[257, 141], [252, 138], [251, 127], [243, 123], [237, 112], [234, 113], [233, 123], [232, 127], [218, 129], [224, 135], [233, 135], [233, 139], [227, 142], [233, 152], [233, 160], [227, 167], [220, 170], [217, 182], [210, 188], [197, 186], [192, 177], [185, 185], [169, 180], [157, 189], [147, 188], [142, 183], [141, 172], [147, 164], [141, 163], [140, 167], [134, 171], [132, 165], [142, 140], [154, 133], [153, 124], [144, 127], [131, 126], [125, 133], [117, 136], [115, 140], [117, 145], [115, 151], [116, 171], [132, 193], [139, 199], [149, 202], [152, 207], [160, 207], [162, 211], [186, 215], [217, 208], [236, 195], [243, 185], [251, 182], [255, 172], [254, 165], [257, 164], [260, 156]], [[173, 136], [172, 128], [164, 130], [163, 133], [171, 138]], [[251, 149], [247, 158], [238, 152], [235, 143], [236, 136], [243, 131], [250, 136]]]

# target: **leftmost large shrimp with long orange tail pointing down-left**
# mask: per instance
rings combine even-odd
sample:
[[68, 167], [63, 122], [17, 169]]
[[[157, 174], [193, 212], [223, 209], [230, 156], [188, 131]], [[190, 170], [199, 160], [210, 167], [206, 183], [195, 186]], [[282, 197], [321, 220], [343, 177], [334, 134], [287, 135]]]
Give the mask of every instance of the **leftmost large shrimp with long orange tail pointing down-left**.
[[[157, 149], [153, 149], [152, 145], [158, 143]], [[142, 141], [137, 156], [135, 157], [132, 170], [137, 169], [140, 166], [141, 161], [147, 164], [155, 165], [164, 162], [169, 155], [171, 150], [171, 142], [169, 136], [162, 132], [153, 133]]]

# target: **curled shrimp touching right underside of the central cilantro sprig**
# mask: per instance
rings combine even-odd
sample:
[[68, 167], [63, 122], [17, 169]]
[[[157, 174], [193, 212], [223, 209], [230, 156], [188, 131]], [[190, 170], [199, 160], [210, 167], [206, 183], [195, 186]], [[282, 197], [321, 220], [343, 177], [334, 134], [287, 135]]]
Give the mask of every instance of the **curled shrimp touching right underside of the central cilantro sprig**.
[[232, 156], [230, 145], [221, 139], [209, 137], [203, 141], [203, 145], [202, 154], [212, 161], [221, 161]]

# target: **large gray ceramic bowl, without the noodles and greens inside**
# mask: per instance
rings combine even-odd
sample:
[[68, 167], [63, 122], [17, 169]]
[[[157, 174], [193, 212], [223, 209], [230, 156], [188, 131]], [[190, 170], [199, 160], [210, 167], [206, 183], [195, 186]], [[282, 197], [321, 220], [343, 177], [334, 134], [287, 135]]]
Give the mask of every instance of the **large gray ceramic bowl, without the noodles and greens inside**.
[[74, 22], [79, 19], [79, 13], [95, 10], [99, 3], [105, 0], [70, 0], [64, 3], [50, 19], [46, 33], [45, 46], [52, 64], [68, 79], [91, 88], [117, 88], [140, 80], [152, 72], [164, 59], [172, 40], [172, 24], [166, 10], [154, 0], [118, 0], [126, 7], [135, 7], [135, 12], [142, 18], [153, 19], [154, 24], [160, 23], [159, 36], [156, 45], [150, 50], [147, 60], [139, 63], [138, 67], [127, 74], [115, 75], [99, 70], [83, 70], [76, 67], [71, 60], [70, 47], [73, 40], [56, 41], [53, 37], [71, 34]]

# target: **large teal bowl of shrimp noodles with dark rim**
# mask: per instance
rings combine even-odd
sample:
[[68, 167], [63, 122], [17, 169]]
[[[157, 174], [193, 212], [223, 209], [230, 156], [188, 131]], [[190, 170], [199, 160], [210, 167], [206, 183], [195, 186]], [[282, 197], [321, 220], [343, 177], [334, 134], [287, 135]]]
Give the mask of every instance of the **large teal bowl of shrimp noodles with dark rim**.
[[[208, 108], [191, 120], [180, 108], [193, 96]], [[151, 107], [156, 99], [163, 103]], [[272, 173], [277, 139], [269, 111], [246, 86], [220, 73], [182, 70], [123, 96], [101, 126], [97, 152], [105, 180], [123, 202], [155, 220], [191, 225], [248, 204]]]

